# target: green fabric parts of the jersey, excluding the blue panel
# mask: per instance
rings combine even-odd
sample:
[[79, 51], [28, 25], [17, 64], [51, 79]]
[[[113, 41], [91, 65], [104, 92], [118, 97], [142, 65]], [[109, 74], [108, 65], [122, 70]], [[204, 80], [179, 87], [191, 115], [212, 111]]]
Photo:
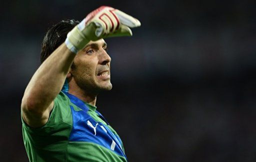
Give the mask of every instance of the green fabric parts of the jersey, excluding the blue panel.
[[[87, 113], [93, 119], [107, 125], [97, 116], [96, 107], [88, 103], [84, 104], [89, 107]], [[23, 142], [29, 161], [126, 161], [125, 157], [99, 144], [68, 141], [72, 129], [70, 105], [76, 111], [81, 110], [71, 103], [63, 92], [60, 92], [54, 99], [54, 107], [45, 125], [31, 128], [21, 117]], [[117, 134], [111, 126], [107, 126], [114, 134]]]

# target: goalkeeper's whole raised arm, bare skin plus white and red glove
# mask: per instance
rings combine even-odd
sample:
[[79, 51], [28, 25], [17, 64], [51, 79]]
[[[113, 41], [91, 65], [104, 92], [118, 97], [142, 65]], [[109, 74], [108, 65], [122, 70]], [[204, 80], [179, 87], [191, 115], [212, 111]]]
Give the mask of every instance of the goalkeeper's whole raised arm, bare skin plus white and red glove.
[[31, 127], [47, 122], [75, 53], [86, 43], [109, 36], [131, 36], [129, 27], [137, 26], [140, 26], [137, 19], [112, 7], [101, 6], [90, 12], [33, 74], [21, 102], [24, 121]]

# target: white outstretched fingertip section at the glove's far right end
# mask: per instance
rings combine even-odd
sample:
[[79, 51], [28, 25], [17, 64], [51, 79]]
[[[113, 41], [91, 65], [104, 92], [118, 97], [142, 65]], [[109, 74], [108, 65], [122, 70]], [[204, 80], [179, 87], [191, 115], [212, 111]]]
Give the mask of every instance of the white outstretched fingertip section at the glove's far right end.
[[118, 10], [115, 9], [113, 12], [116, 14], [116, 16], [119, 18], [120, 22], [128, 27], [138, 27], [140, 26], [140, 22], [138, 19]]

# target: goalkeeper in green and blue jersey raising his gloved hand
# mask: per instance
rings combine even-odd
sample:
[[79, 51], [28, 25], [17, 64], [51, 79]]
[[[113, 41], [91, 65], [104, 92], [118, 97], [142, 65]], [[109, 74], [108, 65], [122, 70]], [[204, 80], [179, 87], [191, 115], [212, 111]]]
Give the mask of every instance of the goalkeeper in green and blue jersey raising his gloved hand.
[[30, 161], [127, 161], [122, 141], [96, 110], [110, 90], [110, 36], [131, 36], [140, 22], [101, 6], [81, 22], [60, 21], [44, 36], [41, 65], [21, 102], [22, 134]]

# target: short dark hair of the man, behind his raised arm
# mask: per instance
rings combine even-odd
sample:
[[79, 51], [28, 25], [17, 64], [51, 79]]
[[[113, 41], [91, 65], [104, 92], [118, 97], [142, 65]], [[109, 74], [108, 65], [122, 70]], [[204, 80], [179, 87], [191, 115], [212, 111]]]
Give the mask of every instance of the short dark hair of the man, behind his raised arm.
[[60, 45], [65, 39], [67, 33], [79, 23], [73, 19], [62, 20], [51, 26], [46, 32], [41, 45], [41, 63]]

